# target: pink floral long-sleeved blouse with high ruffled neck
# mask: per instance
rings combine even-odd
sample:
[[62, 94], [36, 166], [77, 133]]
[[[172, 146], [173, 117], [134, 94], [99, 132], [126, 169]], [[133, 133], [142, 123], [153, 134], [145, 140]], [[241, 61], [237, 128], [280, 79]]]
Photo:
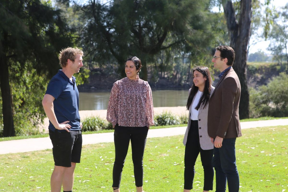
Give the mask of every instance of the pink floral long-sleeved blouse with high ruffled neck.
[[112, 87], [107, 109], [107, 121], [113, 127], [150, 127], [154, 125], [151, 88], [147, 81], [128, 77], [116, 81]]

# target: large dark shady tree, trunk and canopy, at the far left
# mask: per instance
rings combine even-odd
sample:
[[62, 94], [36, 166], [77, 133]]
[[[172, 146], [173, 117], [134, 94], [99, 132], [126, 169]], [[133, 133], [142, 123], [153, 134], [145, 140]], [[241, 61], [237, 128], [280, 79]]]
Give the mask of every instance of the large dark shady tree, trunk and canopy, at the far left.
[[[47, 80], [55, 74], [60, 68], [58, 64], [59, 51], [62, 47], [71, 46], [71, 39], [68, 35], [70, 29], [60, 15], [60, 10], [53, 9], [49, 1], [10, 0], [0, 2], [0, 88], [3, 136], [15, 135], [14, 109], [28, 105], [27, 101], [30, 101], [31, 98], [36, 100], [34, 108], [39, 109], [39, 113], [36, 110], [35, 113], [31, 113], [31, 116], [37, 117], [38, 114], [43, 117], [41, 116], [41, 97], [45, 90], [40, 93], [40, 98], [33, 97], [34, 94], [39, 96], [39, 92], [31, 92], [29, 96], [31, 98], [25, 98], [22, 92], [31, 86], [27, 85], [26, 76], [34, 74], [32, 71], [35, 70], [36, 74], [47, 75], [44, 77]], [[37, 81], [37, 78], [34, 79]], [[22, 90], [18, 89], [18, 92], [14, 92], [12, 81], [22, 83]], [[37, 83], [39, 82], [35, 82], [36, 85]], [[12, 97], [15, 94], [18, 95], [16, 102]], [[18, 104], [18, 107], [15, 107], [15, 104]], [[29, 108], [27, 110], [29, 111]], [[29, 116], [22, 118], [28, 118], [26, 123], [31, 123]]]

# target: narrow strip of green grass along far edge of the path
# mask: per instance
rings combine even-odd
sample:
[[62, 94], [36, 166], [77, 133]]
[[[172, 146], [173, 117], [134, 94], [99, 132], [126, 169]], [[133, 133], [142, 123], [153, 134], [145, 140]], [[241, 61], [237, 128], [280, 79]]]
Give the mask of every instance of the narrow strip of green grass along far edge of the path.
[[[251, 119], [241, 119], [240, 122], [245, 121], [261, 121], [261, 120], [271, 120], [271, 119], [287, 119], [288, 117], [259, 117], [259, 118], [251, 118]], [[166, 125], [166, 126], [151, 126], [150, 129], [160, 129], [160, 128], [170, 128], [170, 127], [184, 127], [187, 124], [180, 124], [180, 125]], [[107, 133], [113, 132], [114, 130], [100, 130], [100, 131], [88, 131], [83, 132], [83, 134], [92, 134], [92, 133]], [[28, 136], [15, 136], [15, 137], [1, 137], [1, 141], [9, 141], [9, 140], [17, 140], [17, 139], [29, 139], [29, 138], [39, 138], [39, 137], [48, 137], [49, 134], [39, 134], [39, 135], [28, 135]]]

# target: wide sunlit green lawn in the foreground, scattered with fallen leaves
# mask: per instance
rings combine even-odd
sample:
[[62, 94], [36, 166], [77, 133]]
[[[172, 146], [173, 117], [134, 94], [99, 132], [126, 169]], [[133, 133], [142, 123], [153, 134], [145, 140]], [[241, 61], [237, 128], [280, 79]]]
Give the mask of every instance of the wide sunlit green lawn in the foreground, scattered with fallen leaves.
[[[288, 191], [288, 126], [245, 129], [242, 134], [236, 140], [240, 191]], [[183, 190], [185, 147], [182, 139], [183, 136], [147, 139], [145, 191]], [[122, 192], [135, 192], [130, 150], [122, 173]], [[112, 191], [113, 161], [113, 143], [83, 146], [81, 163], [75, 169], [73, 191]], [[0, 191], [50, 191], [53, 167], [52, 150], [0, 155]], [[203, 169], [198, 158], [193, 191], [202, 192], [202, 187]]]

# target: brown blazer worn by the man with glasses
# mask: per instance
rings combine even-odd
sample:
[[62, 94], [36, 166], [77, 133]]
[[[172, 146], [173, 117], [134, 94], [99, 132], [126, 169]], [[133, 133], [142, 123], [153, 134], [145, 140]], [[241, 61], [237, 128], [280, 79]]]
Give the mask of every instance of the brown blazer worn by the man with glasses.
[[224, 73], [212, 93], [208, 109], [208, 135], [212, 138], [242, 136], [239, 121], [241, 85], [231, 67]]

